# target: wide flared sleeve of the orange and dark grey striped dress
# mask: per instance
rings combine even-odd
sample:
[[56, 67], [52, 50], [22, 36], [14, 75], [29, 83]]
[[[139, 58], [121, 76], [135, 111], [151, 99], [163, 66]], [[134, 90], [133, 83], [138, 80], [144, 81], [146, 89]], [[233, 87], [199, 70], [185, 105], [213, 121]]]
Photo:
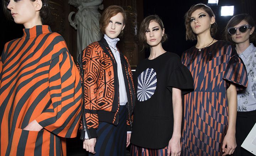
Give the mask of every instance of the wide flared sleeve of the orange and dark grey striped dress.
[[81, 82], [79, 71], [68, 52], [61, 53], [50, 63], [49, 92], [52, 103], [36, 118], [52, 133], [74, 138], [81, 117]]

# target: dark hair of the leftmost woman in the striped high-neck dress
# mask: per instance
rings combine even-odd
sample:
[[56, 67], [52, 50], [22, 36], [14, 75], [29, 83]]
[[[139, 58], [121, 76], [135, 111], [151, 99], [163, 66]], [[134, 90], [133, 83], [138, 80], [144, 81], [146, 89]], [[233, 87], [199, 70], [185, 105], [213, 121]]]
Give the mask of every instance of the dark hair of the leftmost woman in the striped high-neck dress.
[[[3, 11], [5, 14], [5, 17], [7, 20], [13, 20], [12, 16], [11, 16], [11, 11], [7, 8], [7, 5], [9, 4], [8, 2], [9, 0], [2, 0], [2, 7], [3, 7]], [[32, 2], [36, 1], [36, 0], [31, 0]], [[49, 0], [41, 0], [43, 5], [42, 8], [40, 10], [40, 17], [42, 20], [42, 23], [46, 23], [46, 21], [48, 21], [48, 18], [50, 16], [50, 7], [48, 5]]]

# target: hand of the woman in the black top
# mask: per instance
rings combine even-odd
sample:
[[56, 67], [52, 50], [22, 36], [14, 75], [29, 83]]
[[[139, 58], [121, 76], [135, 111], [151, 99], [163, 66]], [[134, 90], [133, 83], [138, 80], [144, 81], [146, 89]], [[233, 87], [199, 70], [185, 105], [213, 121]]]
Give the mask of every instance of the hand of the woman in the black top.
[[180, 156], [181, 155], [181, 143], [180, 137], [172, 137], [167, 147], [167, 156]]

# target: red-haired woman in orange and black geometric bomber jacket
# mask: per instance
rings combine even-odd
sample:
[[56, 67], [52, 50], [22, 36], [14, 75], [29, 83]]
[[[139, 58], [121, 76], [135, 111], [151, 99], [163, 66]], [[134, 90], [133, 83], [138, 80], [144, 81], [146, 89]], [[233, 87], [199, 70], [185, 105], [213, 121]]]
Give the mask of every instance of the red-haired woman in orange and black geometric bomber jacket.
[[129, 145], [127, 131], [131, 130], [134, 107], [132, 71], [116, 47], [125, 21], [122, 7], [109, 6], [100, 18], [104, 37], [87, 46], [79, 57], [85, 108], [81, 139], [89, 155], [122, 156]]

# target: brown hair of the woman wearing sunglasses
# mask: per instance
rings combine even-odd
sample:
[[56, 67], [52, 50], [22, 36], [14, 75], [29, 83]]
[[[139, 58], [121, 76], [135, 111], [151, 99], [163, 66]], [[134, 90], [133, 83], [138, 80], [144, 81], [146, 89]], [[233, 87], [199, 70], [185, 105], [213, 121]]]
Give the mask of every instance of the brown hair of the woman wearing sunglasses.
[[[248, 15], [248, 14], [236, 15], [236, 16], [232, 17], [228, 21], [228, 24], [226, 25], [225, 37], [226, 37], [227, 41], [230, 41], [233, 44], [235, 44], [235, 42], [232, 41], [231, 35], [228, 33], [228, 28], [229, 27], [234, 27], [234, 26], [238, 25], [242, 20], [245, 20], [250, 26], [255, 27], [255, 22], [254, 22], [253, 18], [251, 17], [251, 15]], [[255, 31], [250, 35], [249, 39], [250, 39], [250, 43], [255, 42], [255, 39], [256, 39]]]

